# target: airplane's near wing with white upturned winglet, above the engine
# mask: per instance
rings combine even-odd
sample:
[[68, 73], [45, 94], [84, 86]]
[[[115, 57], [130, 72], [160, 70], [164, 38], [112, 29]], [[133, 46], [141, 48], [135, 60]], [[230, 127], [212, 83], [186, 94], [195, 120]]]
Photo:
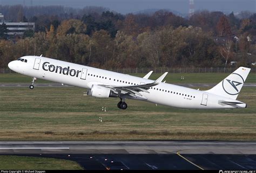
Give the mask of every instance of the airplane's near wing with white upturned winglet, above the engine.
[[163, 75], [161, 75], [156, 81], [149, 83], [149, 84], [142, 84], [142, 85], [127, 85], [127, 86], [111, 86], [111, 85], [101, 85], [110, 89], [113, 89], [114, 91], [119, 91], [119, 92], [125, 92], [125, 93], [129, 93], [132, 96], [142, 96], [142, 94], [140, 94], [139, 92], [146, 92], [149, 93], [149, 91], [147, 91], [147, 89], [149, 89], [152, 86], [156, 86], [158, 84], [161, 83], [161, 81], [163, 81], [163, 79], [165, 78], [165, 76], [167, 75], [168, 72], [165, 72]]

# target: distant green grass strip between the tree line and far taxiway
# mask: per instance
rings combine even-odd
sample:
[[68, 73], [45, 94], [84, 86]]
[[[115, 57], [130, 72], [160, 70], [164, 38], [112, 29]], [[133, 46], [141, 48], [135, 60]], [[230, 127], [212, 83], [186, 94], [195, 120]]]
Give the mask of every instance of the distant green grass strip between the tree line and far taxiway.
[[[190, 83], [190, 84], [217, 84], [224, 78], [226, 78], [230, 73], [169, 73], [165, 77], [167, 83]], [[133, 73], [130, 75], [143, 77], [145, 74]], [[150, 79], [157, 79], [161, 74], [153, 73]], [[181, 76], [184, 80], [181, 80]], [[11, 73], [11, 74], [0, 74], [0, 83], [30, 83], [31, 78], [22, 74]], [[37, 83], [50, 83], [49, 81], [40, 80]], [[256, 73], [250, 73], [246, 79], [246, 83], [256, 83]]]

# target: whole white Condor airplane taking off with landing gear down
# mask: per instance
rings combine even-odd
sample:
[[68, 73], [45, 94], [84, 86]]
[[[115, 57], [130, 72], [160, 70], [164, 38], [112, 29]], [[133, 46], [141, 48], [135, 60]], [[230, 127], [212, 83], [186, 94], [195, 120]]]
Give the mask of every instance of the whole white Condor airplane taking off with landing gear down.
[[68, 63], [41, 56], [24, 56], [8, 64], [12, 71], [32, 78], [59, 84], [82, 87], [87, 95], [96, 98], [120, 98], [117, 107], [126, 109], [125, 99], [142, 100], [159, 105], [191, 109], [246, 108], [237, 96], [251, 68], [239, 67], [223, 81], [207, 91], [162, 82], [165, 72], [157, 80], [150, 80], [153, 71], [143, 78], [111, 72], [99, 68]]

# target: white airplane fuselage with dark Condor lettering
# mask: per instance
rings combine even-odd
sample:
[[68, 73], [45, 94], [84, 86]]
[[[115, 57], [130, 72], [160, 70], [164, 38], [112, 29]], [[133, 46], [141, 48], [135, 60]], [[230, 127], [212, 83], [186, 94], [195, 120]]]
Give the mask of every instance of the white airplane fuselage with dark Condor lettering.
[[[49, 80], [60, 84], [91, 89], [92, 85], [129, 86], [149, 84], [153, 80], [134, 77], [132, 75], [83, 66], [56, 59], [37, 56], [25, 56], [27, 63], [12, 61], [9, 64], [11, 70], [17, 73]], [[150, 87], [149, 93], [139, 92], [143, 96], [137, 96], [136, 100], [144, 100], [160, 105], [193, 108], [193, 109], [227, 109], [244, 108], [246, 104], [225, 105], [220, 101], [236, 101], [220, 95], [198, 91], [177, 85], [161, 82], [157, 86]]]

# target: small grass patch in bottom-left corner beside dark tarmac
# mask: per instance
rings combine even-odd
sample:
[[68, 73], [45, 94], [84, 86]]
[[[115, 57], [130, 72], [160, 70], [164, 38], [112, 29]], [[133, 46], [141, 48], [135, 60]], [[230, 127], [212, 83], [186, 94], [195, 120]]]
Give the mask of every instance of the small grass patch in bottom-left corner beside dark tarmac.
[[43, 157], [0, 156], [0, 170], [80, 170], [76, 162]]

